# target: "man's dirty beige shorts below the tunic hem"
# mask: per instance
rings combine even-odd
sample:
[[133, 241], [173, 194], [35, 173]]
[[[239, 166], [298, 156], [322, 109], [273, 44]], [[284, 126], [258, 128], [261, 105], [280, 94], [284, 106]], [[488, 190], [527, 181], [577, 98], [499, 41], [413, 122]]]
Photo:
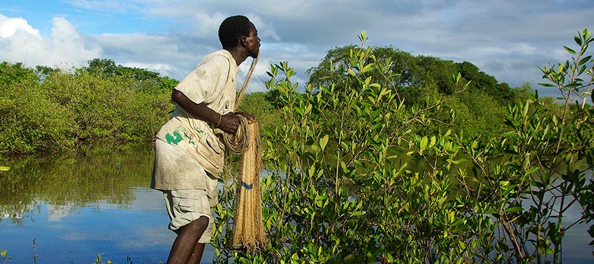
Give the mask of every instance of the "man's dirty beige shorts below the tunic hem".
[[210, 243], [214, 230], [214, 215], [206, 190], [164, 190], [165, 205], [169, 213], [169, 229], [179, 233], [179, 228], [188, 223], [208, 217], [208, 228], [200, 237], [198, 243]]

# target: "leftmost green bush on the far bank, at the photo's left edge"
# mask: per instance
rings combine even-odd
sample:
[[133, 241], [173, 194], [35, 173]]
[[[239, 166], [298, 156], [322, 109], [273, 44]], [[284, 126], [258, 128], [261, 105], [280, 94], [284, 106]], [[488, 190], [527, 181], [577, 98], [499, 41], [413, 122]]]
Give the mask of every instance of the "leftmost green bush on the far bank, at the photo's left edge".
[[[6, 73], [17, 65], [4, 63], [0, 67]], [[17, 74], [8, 72], [3, 77], [16, 79], [8, 80], [0, 94], [0, 154], [54, 151], [74, 146], [72, 113], [46, 96], [45, 87], [31, 69], [21, 68]]]

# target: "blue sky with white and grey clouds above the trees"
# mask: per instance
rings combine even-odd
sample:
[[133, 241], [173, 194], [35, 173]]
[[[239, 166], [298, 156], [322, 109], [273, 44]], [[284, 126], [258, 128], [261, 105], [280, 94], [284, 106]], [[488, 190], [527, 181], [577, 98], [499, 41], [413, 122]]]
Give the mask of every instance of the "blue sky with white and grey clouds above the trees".
[[270, 65], [284, 61], [303, 89], [307, 69], [333, 47], [359, 45], [365, 31], [366, 45], [468, 61], [500, 83], [555, 96], [538, 85], [538, 67], [570, 59], [563, 45], [577, 47], [573, 36], [594, 28], [592, 0], [0, 0], [0, 61], [72, 69], [108, 58], [181, 80], [221, 48], [219, 25], [236, 14], [261, 38], [248, 91], [265, 91]]

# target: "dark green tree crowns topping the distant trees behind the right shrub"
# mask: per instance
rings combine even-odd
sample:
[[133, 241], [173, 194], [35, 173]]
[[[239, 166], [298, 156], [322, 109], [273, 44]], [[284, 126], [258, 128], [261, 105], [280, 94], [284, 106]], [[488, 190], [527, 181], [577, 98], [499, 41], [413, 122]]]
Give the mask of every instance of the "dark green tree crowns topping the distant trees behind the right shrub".
[[[309, 84], [314, 87], [327, 85], [336, 78], [329, 78], [344, 72], [349, 56], [349, 51], [355, 48], [354, 45], [335, 47], [328, 52], [318, 67], [308, 70]], [[393, 74], [391, 82], [384, 84], [385, 87], [398, 89], [402, 98], [409, 102], [419, 102], [428, 94], [423, 91], [439, 92], [444, 95], [456, 94], [456, 85], [452, 82], [450, 74], [459, 72], [465, 82], [470, 81], [468, 89], [482, 91], [492, 96], [503, 107], [507, 102], [514, 99], [514, 93], [506, 83], [498, 83], [496, 78], [481, 72], [478, 67], [467, 61], [454, 63], [444, 61], [431, 56], [412, 56], [408, 52], [395, 50], [393, 47], [374, 47], [373, 56], [368, 58], [371, 61], [386, 63]], [[386, 72], [388, 73], [388, 72]], [[372, 80], [379, 82], [382, 76], [379, 72], [371, 74]]]

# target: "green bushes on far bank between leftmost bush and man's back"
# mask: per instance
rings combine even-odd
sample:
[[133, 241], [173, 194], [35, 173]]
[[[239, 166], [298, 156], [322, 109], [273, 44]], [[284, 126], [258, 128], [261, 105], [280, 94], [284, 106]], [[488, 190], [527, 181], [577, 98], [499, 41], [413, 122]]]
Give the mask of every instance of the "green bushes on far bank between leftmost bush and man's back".
[[164, 100], [168, 92], [139, 92], [131, 89], [137, 82], [125, 77], [102, 78], [80, 72], [52, 75], [43, 84], [50, 98], [76, 113], [76, 138], [80, 140], [152, 139], [170, 107]]

